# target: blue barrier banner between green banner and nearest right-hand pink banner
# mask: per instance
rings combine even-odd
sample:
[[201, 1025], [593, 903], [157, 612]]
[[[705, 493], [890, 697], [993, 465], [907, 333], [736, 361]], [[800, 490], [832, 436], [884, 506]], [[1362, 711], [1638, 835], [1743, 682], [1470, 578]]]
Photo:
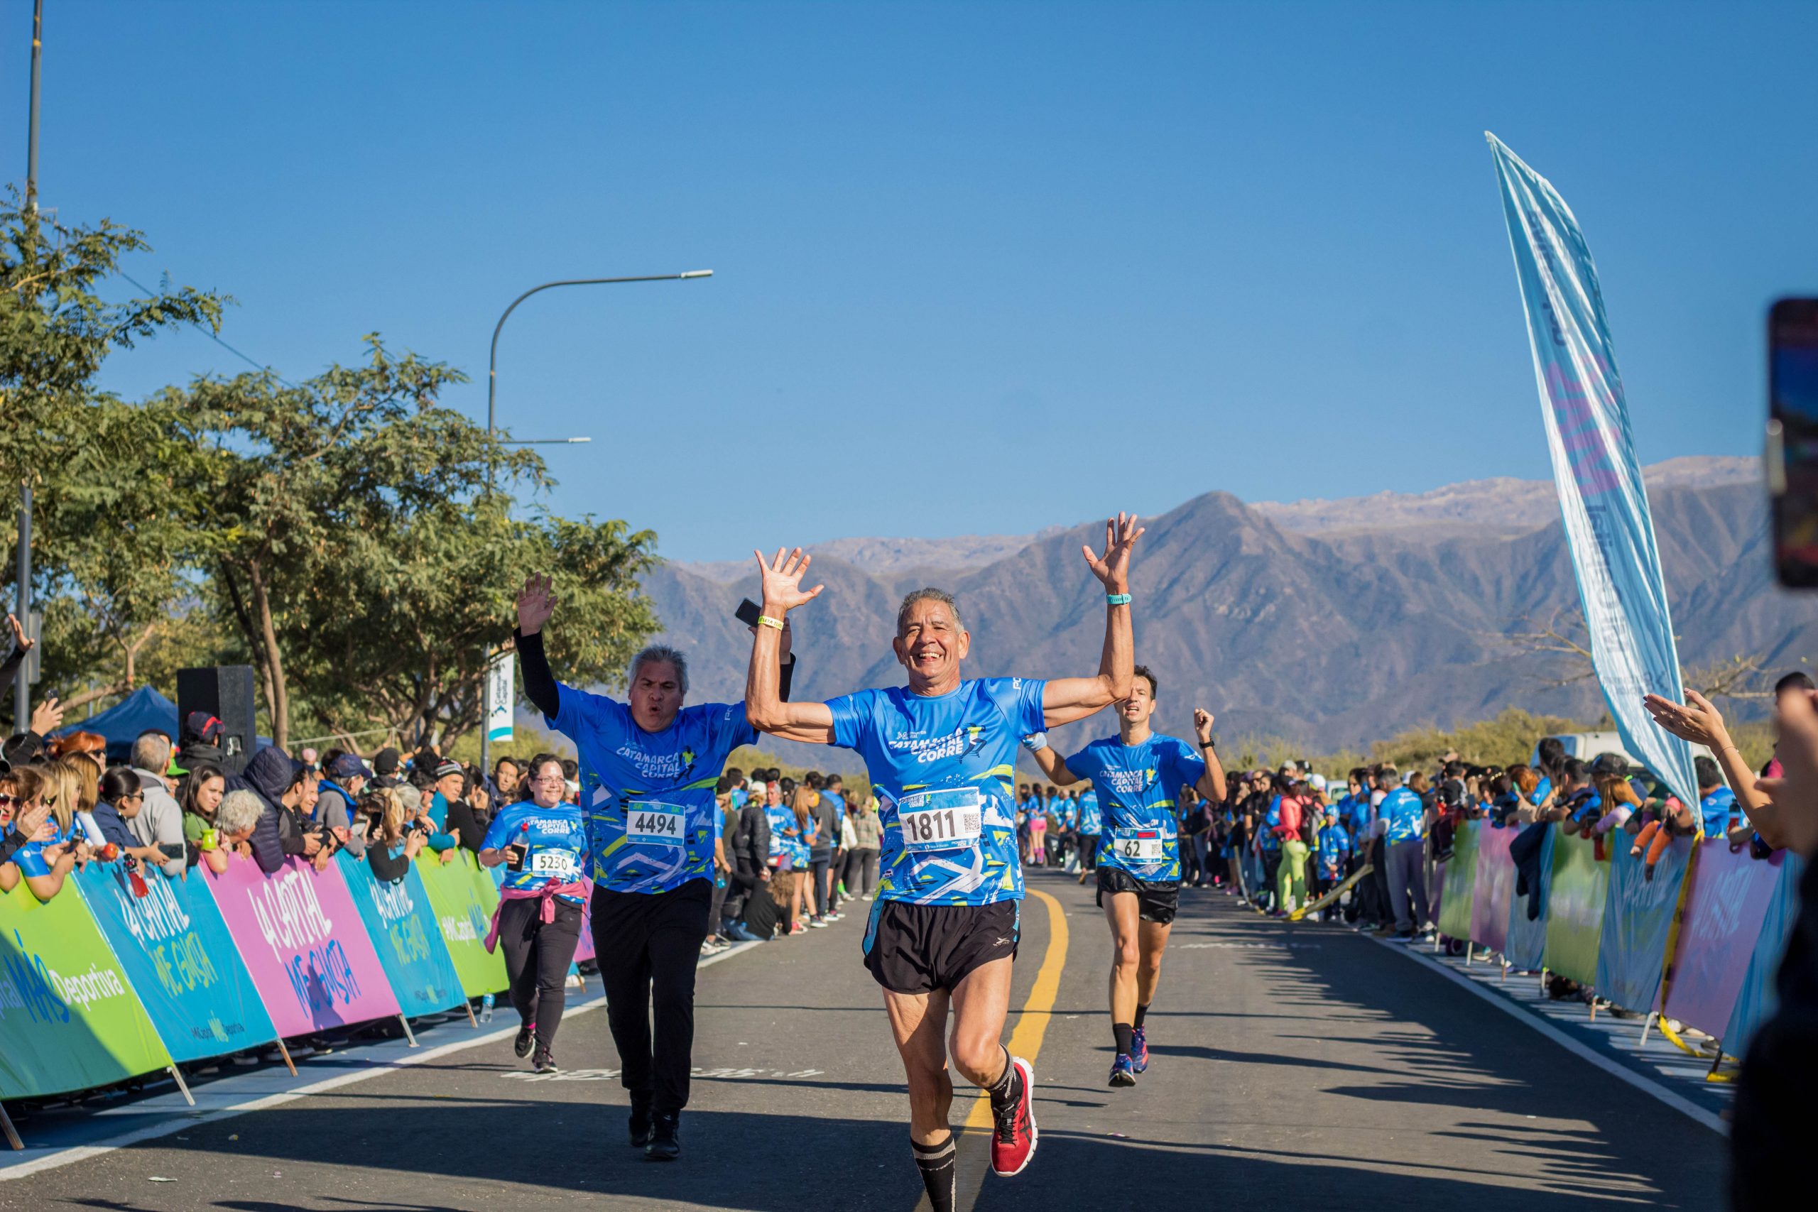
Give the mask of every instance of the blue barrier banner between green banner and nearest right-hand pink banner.
[[1616, 854], [1609, 865], [1609, 899], [1603, 901], [1603, 949], [1596, 954], [1596, 990], [1625, 1010], [1653, 1010], [1660, 992], [1660, 974], [1667, 967], [1667, 939], [1673, 914], [1680, 907], [1680, 887], [1693, 858], [1694, 841], [1674, 838], [1654, 878], [1647, 878], [1647, 858], [1629, 856], [1633, 838], [1613, 830]]

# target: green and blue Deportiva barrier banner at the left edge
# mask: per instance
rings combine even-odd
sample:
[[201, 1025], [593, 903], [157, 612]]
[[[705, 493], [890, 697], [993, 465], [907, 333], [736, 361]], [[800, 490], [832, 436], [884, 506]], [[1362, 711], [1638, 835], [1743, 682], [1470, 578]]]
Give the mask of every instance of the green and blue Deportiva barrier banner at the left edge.
[[0, 1098], [109, 1085], [165, 1068], [158, 1030], [67, 885], [0, 892]]

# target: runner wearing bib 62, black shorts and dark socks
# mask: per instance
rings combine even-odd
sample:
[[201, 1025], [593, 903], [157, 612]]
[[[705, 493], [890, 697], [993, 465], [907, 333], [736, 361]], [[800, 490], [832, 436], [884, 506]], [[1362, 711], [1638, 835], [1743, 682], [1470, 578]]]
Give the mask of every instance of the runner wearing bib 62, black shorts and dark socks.
[[1156, 680], [1136, 667], [1131, 694], [1118, 703], [1118, 734], [1071, 758], [1040, 732], [1024, 740], [1042, 774], [1060, 787], [1093, 781], [1104, 805], [1098, 845], [1098, 907], [1111, 923], [1111, 1085], [1133, 1087], [1149, 1068], [1144, 1019], [1162, 979], [1162, 950], [1180, 901], [1180, 792], [1193, 787], [1218, 803], [1225, 769], [1213, 750], [1213, 716], [1193, 709], [1194, 743], [1149, 729]]

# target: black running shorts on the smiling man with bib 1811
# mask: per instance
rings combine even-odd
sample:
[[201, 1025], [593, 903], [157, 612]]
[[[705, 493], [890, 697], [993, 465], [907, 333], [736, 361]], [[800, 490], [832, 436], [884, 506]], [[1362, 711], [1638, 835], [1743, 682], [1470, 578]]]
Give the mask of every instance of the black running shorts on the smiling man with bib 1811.
[[1014, 959], [1020, 929], [1022, 901], [876, 901], [865, 927], [865, 969], [893, 994], [953, 990], [973, 969]]

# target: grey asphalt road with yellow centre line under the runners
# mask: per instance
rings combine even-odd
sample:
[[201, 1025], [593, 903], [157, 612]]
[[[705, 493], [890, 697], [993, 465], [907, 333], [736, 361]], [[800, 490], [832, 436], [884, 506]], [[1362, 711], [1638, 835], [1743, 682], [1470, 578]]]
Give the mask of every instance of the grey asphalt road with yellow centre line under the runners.
[[[1024, 910], [1013, 1007], [1034, 1012], [1013, 1027], [1040, 1043], [1040, 1148], [998, 1179], [969, 1136], [962, 1208], [1723, 1207], [1727, 1143], [1707, 1127], [1387, 947], [1205, 890], [1184, 894], [1153, 1065], [1109, 1090], [1104, 919], [1069, 878], [1029, 883], [1051, 899]], [[0, 1208], [914, 1212], [902, 1072], [860, 927], [700, 974], [674, 1165], [625, 1145], [596, 1010], [564, 1028], [554, 1079], [527, 1079], [509, 1043], [478, 1045], [0, 1183]], [[962, 1094], [954, 1121], [969, 1110]]]

